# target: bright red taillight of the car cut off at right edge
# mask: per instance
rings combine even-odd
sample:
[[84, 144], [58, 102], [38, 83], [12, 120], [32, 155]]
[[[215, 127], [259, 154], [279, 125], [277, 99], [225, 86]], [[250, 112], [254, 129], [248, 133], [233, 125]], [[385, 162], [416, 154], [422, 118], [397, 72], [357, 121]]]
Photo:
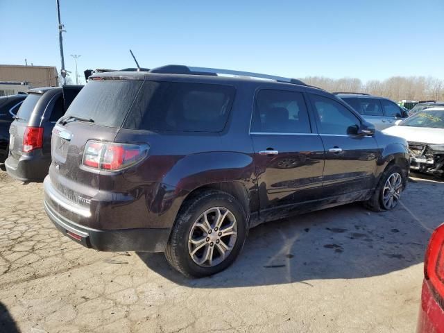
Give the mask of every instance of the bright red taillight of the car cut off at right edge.
[[425, 253], [424, 275], [437, 295], [444, 299], [444, 224], [436, 228], [430, 237]]

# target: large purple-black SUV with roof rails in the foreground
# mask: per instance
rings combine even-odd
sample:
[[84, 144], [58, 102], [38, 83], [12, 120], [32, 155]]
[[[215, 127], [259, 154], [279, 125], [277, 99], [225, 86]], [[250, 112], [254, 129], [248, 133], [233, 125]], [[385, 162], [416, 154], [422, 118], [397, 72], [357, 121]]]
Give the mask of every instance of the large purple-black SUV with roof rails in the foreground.
[[163, 251], [200, 277], [229, 266], [259, 223], [397, 205], [404, 139], [298, 80], [216, 73], [253, 76], [180, 66], [92, 76], [53, 129], [44, 207], [63, 234], [97, 250]]

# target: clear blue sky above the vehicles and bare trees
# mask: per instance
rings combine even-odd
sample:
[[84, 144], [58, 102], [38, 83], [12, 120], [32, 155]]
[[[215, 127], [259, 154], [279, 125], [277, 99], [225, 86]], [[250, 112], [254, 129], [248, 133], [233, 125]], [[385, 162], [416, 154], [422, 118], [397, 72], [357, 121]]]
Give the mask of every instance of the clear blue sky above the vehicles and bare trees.
[[[74, 71], [167, 64], [290, 77], [444, 78], [443, 0], [60, 0]], [[0, 0], [0, 64], [60, 69], [55, 0]], [[74, 75], [73, 75], [74, 78]]]

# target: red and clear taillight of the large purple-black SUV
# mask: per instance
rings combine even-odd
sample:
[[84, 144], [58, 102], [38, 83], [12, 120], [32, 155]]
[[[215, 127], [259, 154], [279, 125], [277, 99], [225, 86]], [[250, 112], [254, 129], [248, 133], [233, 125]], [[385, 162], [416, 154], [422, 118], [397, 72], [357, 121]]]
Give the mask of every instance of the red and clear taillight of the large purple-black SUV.
[[83, 164], [94, 169], [117, 171], [143, 160], [148, 150], [147, 144], [89, 141], [83, 152]]

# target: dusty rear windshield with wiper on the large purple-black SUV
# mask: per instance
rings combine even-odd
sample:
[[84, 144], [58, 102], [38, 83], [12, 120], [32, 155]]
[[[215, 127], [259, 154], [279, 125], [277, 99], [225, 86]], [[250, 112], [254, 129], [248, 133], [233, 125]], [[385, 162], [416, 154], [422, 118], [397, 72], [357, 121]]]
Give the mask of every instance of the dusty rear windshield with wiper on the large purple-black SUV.
[[96, 125], [121, 127], [142, 83], [142, 80], [89, 81], [65, 115], [93, 119]]

